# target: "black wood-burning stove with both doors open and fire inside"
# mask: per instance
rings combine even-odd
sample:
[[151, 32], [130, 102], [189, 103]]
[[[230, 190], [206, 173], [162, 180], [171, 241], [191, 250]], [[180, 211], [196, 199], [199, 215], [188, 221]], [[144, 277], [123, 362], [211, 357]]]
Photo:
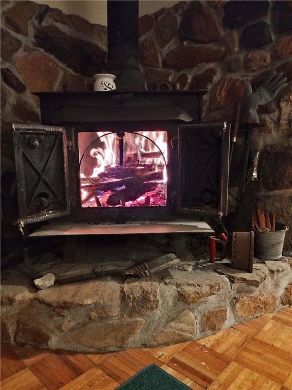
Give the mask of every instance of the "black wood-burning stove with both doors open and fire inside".
[[203, 94], [37, 94], [42, 125], [13, 126], [19, 225], [226, 214], [229, 125], [199, 124]]

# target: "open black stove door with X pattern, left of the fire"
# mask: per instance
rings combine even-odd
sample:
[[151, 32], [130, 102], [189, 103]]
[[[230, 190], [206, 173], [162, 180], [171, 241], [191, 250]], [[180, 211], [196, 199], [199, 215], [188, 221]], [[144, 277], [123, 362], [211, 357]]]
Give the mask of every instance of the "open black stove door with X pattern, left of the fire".
[[70, 214], [63, 127], [13, 124], [20, 227]]

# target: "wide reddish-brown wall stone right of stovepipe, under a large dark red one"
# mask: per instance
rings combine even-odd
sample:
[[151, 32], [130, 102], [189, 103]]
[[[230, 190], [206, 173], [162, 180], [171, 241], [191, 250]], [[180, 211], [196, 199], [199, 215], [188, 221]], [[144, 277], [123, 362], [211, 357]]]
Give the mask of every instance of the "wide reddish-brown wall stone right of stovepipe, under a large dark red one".
[[224, 48], [213, 48], [208, 45], [200, 47], [179, 45], [167, 53], [166, 64], [176, 71], [181, 71], [194, 68], [199, 63], [219, 61], [224, 53]]

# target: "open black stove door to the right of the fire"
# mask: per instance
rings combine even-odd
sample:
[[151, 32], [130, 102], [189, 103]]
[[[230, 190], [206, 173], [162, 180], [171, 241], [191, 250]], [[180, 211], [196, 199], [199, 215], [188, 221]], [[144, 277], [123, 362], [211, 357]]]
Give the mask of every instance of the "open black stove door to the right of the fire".
[[177, 212], [227, 214], [230, 124], [178, 129]]

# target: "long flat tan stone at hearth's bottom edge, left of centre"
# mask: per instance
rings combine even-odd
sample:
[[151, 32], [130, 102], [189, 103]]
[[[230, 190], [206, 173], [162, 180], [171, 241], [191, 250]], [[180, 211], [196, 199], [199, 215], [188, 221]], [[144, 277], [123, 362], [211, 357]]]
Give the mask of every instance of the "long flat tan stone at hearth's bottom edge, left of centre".
[[90, 322], [74, 330], [69, 330], [64, 337], [69, 347], [86, 347], [95, 351], [114, 351], [124, 348], [144, 325], [141, 318], [118, 321]]

